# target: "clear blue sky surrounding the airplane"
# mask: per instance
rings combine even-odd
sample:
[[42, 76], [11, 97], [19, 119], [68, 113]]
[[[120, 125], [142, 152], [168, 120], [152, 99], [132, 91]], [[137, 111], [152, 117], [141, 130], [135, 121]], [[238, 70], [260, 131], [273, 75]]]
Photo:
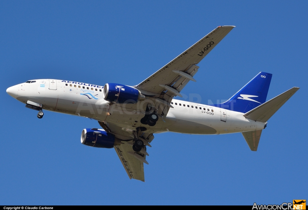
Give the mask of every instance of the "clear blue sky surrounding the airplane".
[[[307, 11], [307, 1], [0, 1], [0, 205], [308, 199]], [[240, 133], [156, 134], [146, 182], [130, 180], [114, 149], [80, 143], [97, 121], [38, 119], [6, 93], [39, 78], [136, 85], [221, 25], [236, 28], [184, 94], [228, 99], [261, 71], [273, 74], [267, 100], [301, 88], [268, 121], [257, 152]]]

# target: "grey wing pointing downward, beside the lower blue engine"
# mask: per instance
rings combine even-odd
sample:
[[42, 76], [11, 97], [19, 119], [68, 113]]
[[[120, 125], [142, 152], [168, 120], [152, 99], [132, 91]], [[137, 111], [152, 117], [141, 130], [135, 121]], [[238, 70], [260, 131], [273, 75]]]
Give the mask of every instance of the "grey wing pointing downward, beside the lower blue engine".
[[143, 162], [136, 159], [131, 154], [128, 154], [128, 152], [135, 153], [132, 149], [132, 145], [124, 143], [120, 146], [115, 146], [114, 148], [129, 178], [138, 179], [144, 182]]

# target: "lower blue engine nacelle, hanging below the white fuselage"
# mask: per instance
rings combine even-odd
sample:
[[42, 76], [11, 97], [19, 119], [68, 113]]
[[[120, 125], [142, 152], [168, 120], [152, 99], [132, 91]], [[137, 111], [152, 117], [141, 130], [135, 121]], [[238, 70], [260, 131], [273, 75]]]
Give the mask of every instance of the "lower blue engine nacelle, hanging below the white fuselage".
[[120, 145], [121, 140], [102, 129], [86, 128], [81, 133], [81, 143], [87, 146], [112, 148], [113, 146]]

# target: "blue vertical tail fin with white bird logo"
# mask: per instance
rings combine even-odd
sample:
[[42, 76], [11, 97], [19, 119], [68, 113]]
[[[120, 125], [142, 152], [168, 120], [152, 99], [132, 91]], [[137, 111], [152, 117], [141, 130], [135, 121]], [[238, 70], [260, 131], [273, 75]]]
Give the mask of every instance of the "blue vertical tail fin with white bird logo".
[[272, 74], [260, 72], [228, 101], [214, 106], [246, 113], [266, 101]]

